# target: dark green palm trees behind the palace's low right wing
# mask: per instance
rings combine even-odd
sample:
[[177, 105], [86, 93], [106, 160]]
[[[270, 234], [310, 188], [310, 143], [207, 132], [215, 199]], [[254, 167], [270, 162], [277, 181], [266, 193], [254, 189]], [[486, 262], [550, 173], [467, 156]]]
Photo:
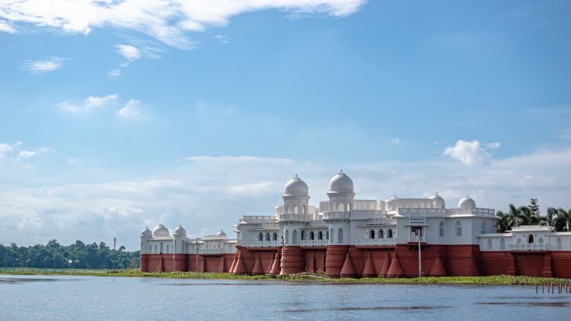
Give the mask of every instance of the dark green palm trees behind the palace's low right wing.
[[547, 208], [543, 216], [539, 212], [537, 199], [530, 199], [529, 205], [518, 208], [514, 204], [509, 204], [509, 212], [498, 210], [496, 216], [500, 218], [497, 226], [500, 233], [522, 225], [552, 226], [556, 232], [571, 230], [571, 209], [566, 211], [563, 208]]

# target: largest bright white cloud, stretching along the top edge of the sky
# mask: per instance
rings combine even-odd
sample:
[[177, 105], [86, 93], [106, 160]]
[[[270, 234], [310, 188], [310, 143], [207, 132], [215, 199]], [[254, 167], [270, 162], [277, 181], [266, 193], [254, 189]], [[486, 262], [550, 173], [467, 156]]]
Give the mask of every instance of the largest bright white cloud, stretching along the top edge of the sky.
[[244, 12], [276, 9], [345, 17], [359, 10], [363, 3], [365, 0], [9, 0], [0, 4], [0, 18], [16, 25], [31, 24], [84, 35], [92, 28], [111, 26], [146, 33], [169, 46], [190, 48], [192, 41], [185, 33], [226, 26], [230, 17]]

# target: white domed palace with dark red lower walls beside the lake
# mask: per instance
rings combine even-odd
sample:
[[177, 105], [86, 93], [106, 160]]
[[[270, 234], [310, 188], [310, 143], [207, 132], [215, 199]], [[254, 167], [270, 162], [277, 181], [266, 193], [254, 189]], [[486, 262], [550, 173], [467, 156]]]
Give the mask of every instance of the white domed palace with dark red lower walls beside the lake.
[[423, 275], [538, 275], [571, 278], [571, 232], [520, 226], [496, 233], [491, 208], [469, 196], [446, 208], [426, 199], [355, 199], [343, 171], [329, 181], [328, 201], [309, 205], [297, 175], [284, 187], [273, 215], [239, 219], [237, 239], [224, 232], [188, 239], [157, 226], [141, 232], [141, 270], [199, 270], [236, 274], [323, 272], [331, 277], [413, 277], [418, 247]]

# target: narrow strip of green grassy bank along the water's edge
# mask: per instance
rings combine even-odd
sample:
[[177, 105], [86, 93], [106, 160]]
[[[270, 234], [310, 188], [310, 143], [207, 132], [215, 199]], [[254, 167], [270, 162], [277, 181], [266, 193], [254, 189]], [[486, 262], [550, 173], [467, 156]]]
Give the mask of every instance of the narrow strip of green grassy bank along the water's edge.
[[478, 285], [535, 285], [550, 282], [570, 283], [570, 279], [547, 277], [525, 277], [511, 275], [491, 275], [483, 277], [415, 277], [387, 278], [363, 277], [361, 279], [339, 278], [329, 279], [320, 275], [289, 275], [286, 277], [271, 277], [268, 275], [232, 275], [230, 273], [196, 273], [196, 272], [141, 272], [139, 270], [38, 270], [33, 268], [0, 270], [5, 275], [84, 275], [97, 277], [166, 277], [172, 279], [246, 279], [273, 280], [291, 282], [328, 282], [328, 283], [377, 283], [377, 284], [478, 284]]

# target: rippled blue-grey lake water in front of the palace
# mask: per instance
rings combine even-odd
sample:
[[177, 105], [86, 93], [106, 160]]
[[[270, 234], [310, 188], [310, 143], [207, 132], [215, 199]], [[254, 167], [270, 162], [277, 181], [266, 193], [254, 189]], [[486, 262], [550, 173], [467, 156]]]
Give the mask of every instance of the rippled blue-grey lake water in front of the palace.
[[571, 320], [535, 286], [0, 275], [0, 320]]

